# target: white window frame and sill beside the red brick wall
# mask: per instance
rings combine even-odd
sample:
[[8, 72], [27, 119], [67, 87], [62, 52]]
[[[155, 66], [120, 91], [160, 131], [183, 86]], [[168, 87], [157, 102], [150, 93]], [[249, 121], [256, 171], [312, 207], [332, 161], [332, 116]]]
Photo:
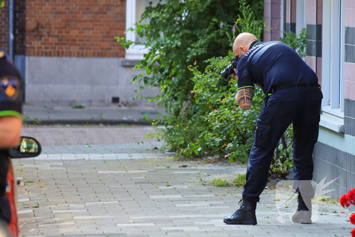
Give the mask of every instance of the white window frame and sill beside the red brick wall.
[[[135, 29], [136, 17], [136, 0], [127, 0], [126, 2], [126, 30], [130, 27]], [[126, 40], [135, 41], [135, 32], [127, 31]], [[141, 60], [144, 59], [144, 54], [148, 53], [149, 49], [145, 45], [131, 45], [126, 49], [125, 59]]]

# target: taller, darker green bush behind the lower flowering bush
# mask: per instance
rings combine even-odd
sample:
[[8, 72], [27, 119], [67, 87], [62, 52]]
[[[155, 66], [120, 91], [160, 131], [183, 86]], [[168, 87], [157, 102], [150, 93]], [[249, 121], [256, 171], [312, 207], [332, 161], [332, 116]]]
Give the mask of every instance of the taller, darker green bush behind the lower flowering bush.
[[[263, 18], [263, 0], [242, 2], [253, 5], [259, 19]], [[150, 49], [135, 67], [145, 70], [133, 77], [133, 82], [144, 82], [137, 91], [146, 86], [160, 88], [160, 95], [148, 97], [150, 101], [164, 106], [169, 117], [179, 116], [184, 102], [191, 101], [189, 91], [194, 86], [187, 66], [197, 61], [203, 70], [206, 59], [228, 54], [238, 7], [238, 1], [217, 0], [166, 0], [155, 7], [150, 3], [141, 16], [150, 23], [137, 23], [135, 29], [129, 29], [145, 38], [145, 46]], [[124, 38], [117, 41], [126, 48], [141, 43]]]

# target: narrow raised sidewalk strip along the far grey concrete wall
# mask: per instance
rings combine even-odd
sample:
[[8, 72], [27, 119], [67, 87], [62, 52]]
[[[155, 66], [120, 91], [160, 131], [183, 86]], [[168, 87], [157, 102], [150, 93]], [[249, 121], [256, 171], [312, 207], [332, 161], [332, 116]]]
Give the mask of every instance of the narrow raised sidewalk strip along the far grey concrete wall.
[[37, 107], [23, 106], [24, 120], [28, 124], [150, 124], [144, 117], [160, 120], [166, 115], [164, 108], [153, 107]]

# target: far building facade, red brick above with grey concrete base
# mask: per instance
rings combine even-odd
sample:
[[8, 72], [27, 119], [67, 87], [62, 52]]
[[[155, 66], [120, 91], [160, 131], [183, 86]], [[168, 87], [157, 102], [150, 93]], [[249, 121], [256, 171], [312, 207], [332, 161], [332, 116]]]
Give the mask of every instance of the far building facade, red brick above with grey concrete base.
[[[145, 106], [146, 101], [130, 100], [138, 87], [130, 84], [137, 73], [132, 67], [143, 54], [126, 60], [126, 50], [115, 39], [135, 23], [126, 24], [136, 13], [132, 4], [136, 0], [14, 0], [13, 53], [26, 103], [107, 106], [120, 97], [124, 105]], [[0, 47], [7, 51], [8, 5], [0, 9]]]

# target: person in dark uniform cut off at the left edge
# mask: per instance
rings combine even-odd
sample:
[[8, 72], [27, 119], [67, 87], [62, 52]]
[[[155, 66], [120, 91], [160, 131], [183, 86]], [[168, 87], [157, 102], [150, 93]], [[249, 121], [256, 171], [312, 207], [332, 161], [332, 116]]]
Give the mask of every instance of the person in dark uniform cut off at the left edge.
[[6, 195], [9, 148], [15, 148], [21, 136], [22, 93], [20, 74], [0, 49], [0, 220], [9, 223], [11, 210]]

